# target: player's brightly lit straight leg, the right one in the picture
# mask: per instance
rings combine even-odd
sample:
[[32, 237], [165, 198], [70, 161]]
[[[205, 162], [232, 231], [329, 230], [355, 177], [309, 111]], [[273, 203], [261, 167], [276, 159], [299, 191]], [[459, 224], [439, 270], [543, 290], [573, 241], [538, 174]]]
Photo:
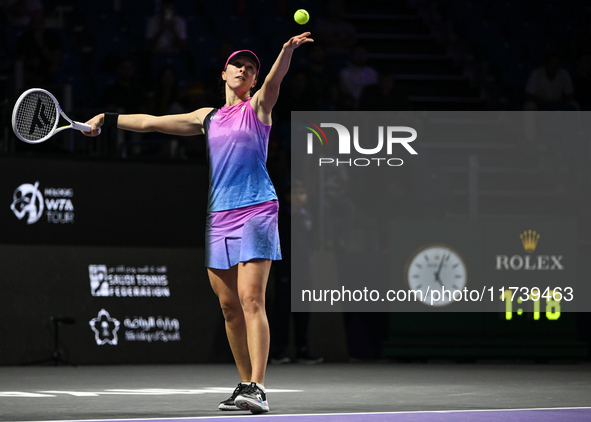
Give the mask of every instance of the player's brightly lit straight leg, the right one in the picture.
[[270, 333], [265, 311], [265, 291], [271, 270], [270, 259], [254, 259], [238, 264], [238, 296], [244, 313], [250, 355], [250, 381], [265, 383]]

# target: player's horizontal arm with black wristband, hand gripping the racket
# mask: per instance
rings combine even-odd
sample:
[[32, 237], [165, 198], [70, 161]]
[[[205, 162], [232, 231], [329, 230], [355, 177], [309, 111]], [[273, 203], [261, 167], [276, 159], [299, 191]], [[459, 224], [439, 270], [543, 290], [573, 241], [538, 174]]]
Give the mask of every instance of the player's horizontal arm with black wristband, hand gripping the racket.
[[168, 135], [192, 136], [202, 134], [202, 121], [211, 111], [211, 108], [201, 108], [191, 113], [171, 114], [167, 116], [152, 116], [149, 114], [111, 114], [101, 113], [94, 116], [86, 124], [90, 125], [91, 132], [82, 132], [86, 136], [97, 136], [98, 128], [105, 125], [115, 126], [118, 129], [132, 132], [160, 132]]

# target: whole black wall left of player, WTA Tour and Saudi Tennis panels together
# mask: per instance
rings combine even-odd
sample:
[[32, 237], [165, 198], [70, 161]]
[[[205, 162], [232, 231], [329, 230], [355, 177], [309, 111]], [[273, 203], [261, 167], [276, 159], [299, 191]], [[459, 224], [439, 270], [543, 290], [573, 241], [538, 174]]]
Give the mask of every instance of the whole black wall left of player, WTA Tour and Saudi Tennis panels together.
[[0, 176], [0, 364], [229, 357], [207, 168], [2, 159]]

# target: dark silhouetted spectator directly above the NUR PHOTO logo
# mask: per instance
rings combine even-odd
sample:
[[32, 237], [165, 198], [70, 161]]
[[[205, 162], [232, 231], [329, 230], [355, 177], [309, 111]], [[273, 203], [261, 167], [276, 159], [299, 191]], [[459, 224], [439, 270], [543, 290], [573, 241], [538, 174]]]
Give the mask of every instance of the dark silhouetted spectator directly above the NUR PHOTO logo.
[[395, 83], [393, 73], [380, 72], [376, 84], [366, 85], [359, 98], [359, 110], [410, 110], [406, 91]]

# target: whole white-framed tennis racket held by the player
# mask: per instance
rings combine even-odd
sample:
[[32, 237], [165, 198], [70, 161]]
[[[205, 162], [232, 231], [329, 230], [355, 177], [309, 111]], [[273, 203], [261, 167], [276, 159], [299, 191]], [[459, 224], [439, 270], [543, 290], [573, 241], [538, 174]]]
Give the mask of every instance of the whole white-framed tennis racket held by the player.
[[[57, 127], [60, 114], [69, 125]], [[90, 125], [71, 120], [56, 98], [44, 89], [29, 89], [16, 100], [12, 111], [12, 130], [21, 141], [39, 144], [64, 129], [90, 132]]]

